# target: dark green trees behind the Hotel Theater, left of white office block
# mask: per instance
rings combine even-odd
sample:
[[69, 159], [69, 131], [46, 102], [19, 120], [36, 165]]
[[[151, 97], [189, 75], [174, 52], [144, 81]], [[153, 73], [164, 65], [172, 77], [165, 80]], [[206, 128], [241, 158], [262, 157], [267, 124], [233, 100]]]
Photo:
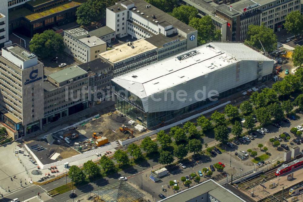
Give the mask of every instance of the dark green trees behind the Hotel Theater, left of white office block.
[[106, 15], [106, 8], [115, 5], [113, 0], [87, 0], [76, 11], [77, 23], [90, 25], [91, 22], [99, 21]]

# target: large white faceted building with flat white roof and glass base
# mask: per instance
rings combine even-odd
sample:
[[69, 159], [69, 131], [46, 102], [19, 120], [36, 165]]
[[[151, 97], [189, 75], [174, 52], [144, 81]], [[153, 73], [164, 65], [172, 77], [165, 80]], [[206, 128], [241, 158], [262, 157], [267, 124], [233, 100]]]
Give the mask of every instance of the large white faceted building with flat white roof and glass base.
[[273, 65], [242, 43], [211, 42], [116, 77], [112, 85], [117, 109], [151, 127], [270, 79]]

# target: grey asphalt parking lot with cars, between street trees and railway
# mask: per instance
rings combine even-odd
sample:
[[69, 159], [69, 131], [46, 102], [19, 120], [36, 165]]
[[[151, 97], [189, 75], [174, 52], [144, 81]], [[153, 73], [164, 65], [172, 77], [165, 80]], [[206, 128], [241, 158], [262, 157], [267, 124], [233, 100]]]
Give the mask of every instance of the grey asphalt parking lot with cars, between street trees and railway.
[[[192, 172], [195, 172], [198, 174], [198, 171], [202, 171], [203, 168], [208, 168], [210, 165], [213, 165], [215, 163], [221, 162], [225, 164], [224, 171], [229, 174], [229, 176], [232, 173], [237, 174], [243, 174], [245, 172], [248, 172], [250, 170], [253, 170], [254, 168], [257, 168], [255, 163], [251, 162], [253, 157], [249, 156], [248, 158], [244, 160], [240, 160], [237, 156], [235, 156], [235, 152], [238, 151], [247, 151], [248, 149], [251, 149], [253, 151], [257, 151], [258, 155], [264, 154], [264, 151], [260, 151], [260, 148], [258, 148], [258, 144], [263, 144], [265, 147], [268, 147], [267, 153], [269, 154], [269, 158], [265, 160], [266, 162], [271, 162], [270, 164], [265, 164], [263, 167], [271, 166], [271, 164], [274, 164], [277, 162], [277, 160], [283, 160], [284, 157], [284, 151], [281, 146], [274, 147], [272, 146], [272, 143], [269, 142], [269, 139], [273, 136], [279, 136], [280, 133], [287, 132], [290, 134], [291, 139], [290, 140], [282, 140], [281, 144], [286, 144], [290, 148], [293, 146], [299, 146], [300, 150], [303, 148], [303, 144], [297, 145], [292, 140], [294, 138], [297, 138], [294, 136], [290, 129], [292, 127], [296, 127], [298, 125], [301, 125], [303, 123], [303, 115], [297, 114], [298, 119], [297, 120], [291, 120], [290, 123], [284, 123], [283, 126], [277, 128], [275, 126], [269, 125], [265, 128], [268, 129], [268, 133], [265, 133], [265, 135], [261, 135], [259, 133], [257, 134], [257, 137], [254, 138], [254, 140], [251, 140], [250, 142], [246, 143], [240, 143], [239, 145], [235, 145], [234, 148], [230, 148], [227, 145], [223, 146], [223, 149], [226, 150], [226, 152], [223, 152], [222, 154], [217, 154], [216, 156], [213, 156], [209, 158], [208, 156], [201, 156], [201, 158], [198, 160], [198, 164], [195, 163], [195, 161], [188, 161], [185, 163], [186, 168], [182, 169], [181, 167], [177, 166], [175, 169], [169, 170], [168, 176], [162, 177], [160, 181], [157, 183], [153, 182], [149, 179], [149, 174], [152, 170], [158, 170], [163, 167], [163, 165], [158, 165], [157, 167], [154, 166], [153, 168], [146, 169], [144, 173], [131, 176], [129, 178], [130, 182], [133, 182], [137, 184], [138, 186], [142, 184], [143, 190], [146, 190], [148, 193], [150, 193], [155, 199], [160, 200], [158, 197], [158, 194], [164, 194], [166, 196], [170, 196], [174, 194], [174, 190], [169, 189], [167, 185], [169, 185], [169, 181], [177, 180], [178, 185], [180, 187], [180, 190], [187, 189], [183, 182], [181, 181], [181, 177], [190, 176]], [[220, 174], [219, 171], [215, 170], [213, 172], [212, 176], [216, 176]], [[201, 181], [205, 180], [207, 178], [201, 177]], [[223, 180], [224, 178], [221, 178]], [[220, 181], [221, 181], [220, 180]], [[195, 184], [194, 180], [192, 181], [192, 184]], [[162, 190], [162, 186], [167, 189], [167, 192], [164, 192]], [[140, 187], [140, 186], [139, 186]]]

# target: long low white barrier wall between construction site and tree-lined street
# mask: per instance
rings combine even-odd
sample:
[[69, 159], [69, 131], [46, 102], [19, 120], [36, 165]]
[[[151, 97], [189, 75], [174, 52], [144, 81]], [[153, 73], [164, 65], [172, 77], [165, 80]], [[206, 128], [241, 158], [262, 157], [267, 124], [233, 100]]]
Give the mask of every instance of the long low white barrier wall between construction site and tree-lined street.
[[143, 139], [143, 138], [145, 138], [145, 137], [154, 135], [154, 134], [158, 133], [160, 130], [166, 130], [166, 129], [171, 128], [171, 127], [173, 127], [173, 126], [177, 126], [177, 125], [179, 125], [179, 124], [181, 124], [181, 123], [185, 123], [185, 122], [188, 121], [188, 120], [192, 120], [192, 119], [194, 119], [194, 118], [197, 118], [198, 116], [201, 116], [202, 114], [206, 114], [206, 113], [208, 113], [208, 112], [214, 111], [214, 110], [216, 110], [216, 109], [218, 109], [218, 108], [220, 108], [220, 107], [222, 107], [222, 106], [225, 106], [225, 105], [227, 105], [227, 104], [229, 104], [229, 103], [230, 103], [230, 101], [228, 101], [228, 102], [226, 102], [226, 103], [223, 103], [223, 104], [221, 104], [221, 105], [215, 106], [215, 107], [213, 107], [213, 108], [211, 108], [211, 109], [208, 109], [208, 110], [206, 110], [206, 111], [204, 111], [204, 112], [202, 112], [202, 113], [198, 113], [198, 114], [195, 114], [195, 115], [193, 115], [193, 116], [190, 116], [190, 117], [188, 117], [188, 118], [186, 118], [186, 119], [183, 119], [183, 120], [181, 120], [181, 121], [178, 121], [178, 122], [172, 123], [172, 124], [170, 124], [170, 125], [163, 126], [162, 128], [158, 128], [157, 130], [153, 130], [153, 131], [151, 131], [151, 132], [145, 133], [145, 134], [140, 135], [140, 136], [138, 136], [138, 137], [135, 137], [135, 138], [132, 138], [132, 139], [128, 139], [128, 140], [125, 140], [125, 141], [118, 140], [118, 142], [119, 142], [119, 144], [122, 145], [122, 146], [127, 145], [127, 144], [132, 143], [132, 142], [135, 142], [135, 141], [137, 141], [137, 140], [141, 140], [141, 139]]

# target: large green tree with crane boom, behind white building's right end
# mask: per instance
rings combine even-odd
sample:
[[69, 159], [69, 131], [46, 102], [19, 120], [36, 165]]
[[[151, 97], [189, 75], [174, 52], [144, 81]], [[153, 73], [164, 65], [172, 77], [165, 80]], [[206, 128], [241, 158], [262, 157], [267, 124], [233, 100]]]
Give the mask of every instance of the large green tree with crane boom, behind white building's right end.
[[249, 25], [247, 31], [247, 42], [249, 45], [263, 51], [262, 45], [266, 52], [272, 52], [277, 48], [277, 35], [274, 30], [262, 25]]

